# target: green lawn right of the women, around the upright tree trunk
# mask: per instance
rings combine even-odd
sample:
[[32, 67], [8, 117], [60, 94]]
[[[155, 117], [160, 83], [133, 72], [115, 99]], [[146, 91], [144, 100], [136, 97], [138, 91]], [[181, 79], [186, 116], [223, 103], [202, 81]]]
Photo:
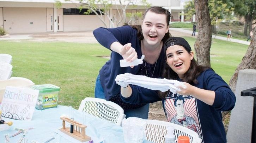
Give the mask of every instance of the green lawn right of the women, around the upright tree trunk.
[[[184, 37], [194, 50], [195, 38]], [[211, 46], [211, 67], [227, 83], [248, 49], [248, 45], [214, 39]]]

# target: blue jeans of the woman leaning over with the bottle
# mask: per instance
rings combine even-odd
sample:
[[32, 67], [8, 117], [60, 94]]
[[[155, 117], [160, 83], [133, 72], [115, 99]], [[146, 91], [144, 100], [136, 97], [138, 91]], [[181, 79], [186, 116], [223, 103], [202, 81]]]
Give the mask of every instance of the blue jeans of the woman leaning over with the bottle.
[[[104, 90], [100, 84], [99, 75], [97, 76], [96, 83], [95, 83], [95, 98], [101, 98], [106, 99]], [[142, 119], [147, 119], [148, 117], [148, 109], [149, 104], [146, 104], [140, 108], [137, 109], [128, 109], [124, 110], [124, 114], [126, 115], [126, 118], [128, 117], [139, 117]]]

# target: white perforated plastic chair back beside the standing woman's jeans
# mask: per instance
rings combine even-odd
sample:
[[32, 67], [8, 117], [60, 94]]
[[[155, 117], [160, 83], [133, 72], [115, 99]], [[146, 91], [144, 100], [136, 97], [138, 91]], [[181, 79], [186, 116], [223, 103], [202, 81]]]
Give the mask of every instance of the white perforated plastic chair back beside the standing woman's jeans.
[[100, 98], [85, 98], [78, 110], [117, 125], [121, 125], [122, 119], [126, 116], [119, 105]]

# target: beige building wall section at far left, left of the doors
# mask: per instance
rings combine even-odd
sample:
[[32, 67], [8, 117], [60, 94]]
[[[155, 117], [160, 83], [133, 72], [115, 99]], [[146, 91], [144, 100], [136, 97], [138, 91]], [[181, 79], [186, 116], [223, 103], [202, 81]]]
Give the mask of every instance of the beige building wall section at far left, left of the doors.
[[4, 7], [3, 9], [4, 28], [7, 33], [46, 32], [46, 8]]

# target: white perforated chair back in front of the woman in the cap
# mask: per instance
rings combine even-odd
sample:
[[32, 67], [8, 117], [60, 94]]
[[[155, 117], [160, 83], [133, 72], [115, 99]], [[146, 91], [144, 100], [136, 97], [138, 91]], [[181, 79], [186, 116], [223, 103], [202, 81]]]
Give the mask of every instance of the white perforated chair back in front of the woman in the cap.
[[181, 125], [173, 124], [170, 122], [158, 121], [158, 120], [145, 120], [147, 122], [146, 138], [148, 141], [154, 143], [164, 143], [165, 135], [167, 134], [168, 126], [173, 126], [175, 135], [175, 143], [177, 143], [178, 136], [188, 136], [190, 143], [201, 143], [202, 139], [199, 135], [188, 128]]

